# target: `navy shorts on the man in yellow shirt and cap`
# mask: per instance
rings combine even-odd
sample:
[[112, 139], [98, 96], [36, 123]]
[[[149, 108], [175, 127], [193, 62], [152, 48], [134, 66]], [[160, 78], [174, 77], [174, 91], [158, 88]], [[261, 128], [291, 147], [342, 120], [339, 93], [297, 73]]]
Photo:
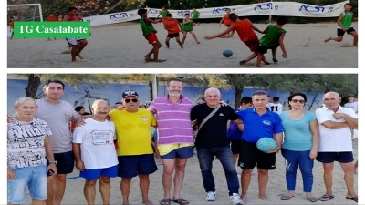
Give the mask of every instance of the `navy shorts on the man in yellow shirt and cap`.
[[133, 178], [149, 175], [157, 170], [153, 154], [118, 156], [118, 177]]

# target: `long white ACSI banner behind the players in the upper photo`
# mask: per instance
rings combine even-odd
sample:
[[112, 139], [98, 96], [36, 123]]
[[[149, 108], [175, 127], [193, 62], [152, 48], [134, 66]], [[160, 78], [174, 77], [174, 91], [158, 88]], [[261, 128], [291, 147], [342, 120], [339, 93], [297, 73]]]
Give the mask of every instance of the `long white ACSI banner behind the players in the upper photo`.
[[[285, 15], [301, 17], [338, 17], [344, 11], [343, 6], [348, 1], [335, 5], [306, 5], [297, 2], [266, 2], [252, 5], [234, 5], [226, 7], [213, 7], [197, 9], [200, 18], [221, 18], [225, 10], [230, 8], [232, 13], [239, 16], [250, 15]], [[148, 16], [153, 18], [159, 15], [161, 9], [146, 8]], [[109, 25], [120, 22], [127, 22], [140, 19], [137, 9], [132, 11], [114, 13], [109, 15], [94, 15], [84, 17], [84, 21], [90, 21], [91, 26]], [[174, 18], [183, 19], [185, 14], [193, 10], [169, 10]]]

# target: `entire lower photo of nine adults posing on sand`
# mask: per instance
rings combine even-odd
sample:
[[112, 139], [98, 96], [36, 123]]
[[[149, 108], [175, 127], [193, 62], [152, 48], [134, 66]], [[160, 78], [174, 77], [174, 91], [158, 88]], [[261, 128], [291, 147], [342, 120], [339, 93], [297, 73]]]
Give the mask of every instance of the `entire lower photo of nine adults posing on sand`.
[[357, 74], [8, 74], [8, 204], [358, 202]]

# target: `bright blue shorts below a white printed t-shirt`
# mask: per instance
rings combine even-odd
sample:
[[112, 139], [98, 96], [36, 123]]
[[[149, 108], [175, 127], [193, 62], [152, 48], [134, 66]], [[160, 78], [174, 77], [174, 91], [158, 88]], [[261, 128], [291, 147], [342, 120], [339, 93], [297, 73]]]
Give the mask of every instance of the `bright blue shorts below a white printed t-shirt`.
[[97, 180], [100, 176], [115, 178], [118, 174], [118, 165], [102, 169], [84, 169], [80, 171], [80, 177], [87, 180]]

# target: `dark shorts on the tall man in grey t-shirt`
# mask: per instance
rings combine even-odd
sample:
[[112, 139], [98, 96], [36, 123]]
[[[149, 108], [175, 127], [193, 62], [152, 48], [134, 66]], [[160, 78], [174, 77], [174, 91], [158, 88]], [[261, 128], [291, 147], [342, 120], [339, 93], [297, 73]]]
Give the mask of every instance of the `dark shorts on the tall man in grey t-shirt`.
[[[72, 151], [55, 153], [53, 156], [55, 157], [55, 160], [57, 160], [57, 174], [72, 173], [75, 165], [74, 153]], [[47, 166], [48, 165], [49, 161], [47, 160]]]

